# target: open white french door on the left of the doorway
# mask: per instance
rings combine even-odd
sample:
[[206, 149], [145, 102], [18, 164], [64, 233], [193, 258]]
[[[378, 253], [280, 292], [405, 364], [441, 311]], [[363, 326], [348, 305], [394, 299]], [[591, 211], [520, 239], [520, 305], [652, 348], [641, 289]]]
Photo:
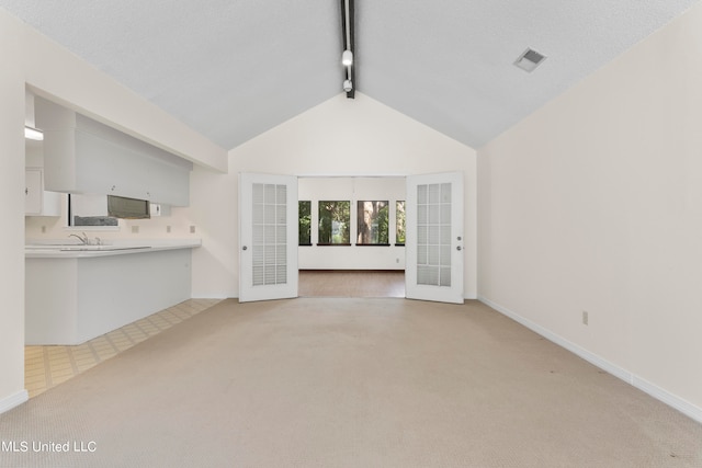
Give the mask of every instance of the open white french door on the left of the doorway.
[[297, 178], [239, 174], [239, 301], [297, 297]]

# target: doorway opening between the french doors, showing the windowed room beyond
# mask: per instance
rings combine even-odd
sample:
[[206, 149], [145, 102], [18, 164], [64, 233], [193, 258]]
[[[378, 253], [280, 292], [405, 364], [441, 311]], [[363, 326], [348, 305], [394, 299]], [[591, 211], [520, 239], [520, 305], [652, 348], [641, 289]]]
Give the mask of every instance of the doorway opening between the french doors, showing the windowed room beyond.
[[405, 297], [405, 176], [299, 176], [298, 296]]

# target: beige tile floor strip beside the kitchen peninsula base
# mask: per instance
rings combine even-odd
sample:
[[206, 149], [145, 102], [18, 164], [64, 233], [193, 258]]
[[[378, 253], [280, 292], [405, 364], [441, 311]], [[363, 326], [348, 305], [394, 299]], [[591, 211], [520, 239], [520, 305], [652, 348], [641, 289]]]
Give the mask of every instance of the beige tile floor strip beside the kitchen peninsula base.
[[24, 388], [30, 398], [34, 398], [218, 301], [219, 299], [185, 300], [75, 346], [25, 346]]

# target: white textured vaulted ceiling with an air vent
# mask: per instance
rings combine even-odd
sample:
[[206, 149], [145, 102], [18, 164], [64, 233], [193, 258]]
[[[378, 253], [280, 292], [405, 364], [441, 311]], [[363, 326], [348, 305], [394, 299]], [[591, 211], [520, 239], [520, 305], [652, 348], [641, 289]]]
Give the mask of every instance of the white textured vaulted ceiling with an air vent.
[[[697, 1], [355, 0], [356, 90], [479, 148]], [[227, 149], [342, 92], [340, 0], [0, 8]]]

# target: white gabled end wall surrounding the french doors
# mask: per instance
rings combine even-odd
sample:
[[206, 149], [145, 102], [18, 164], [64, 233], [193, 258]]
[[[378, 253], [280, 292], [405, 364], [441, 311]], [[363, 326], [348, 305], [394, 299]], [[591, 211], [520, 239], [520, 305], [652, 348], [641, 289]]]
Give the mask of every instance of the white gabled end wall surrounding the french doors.
[[205, 228], [193, 252], [195, 297], [238, 296], [238, 173], [406, 175], [462, 171], [465, 296], [476, 297], [476, 152], [377, 101], [339, 94], [229, 151], [229, 174], [195, 168], [189, 217]]

